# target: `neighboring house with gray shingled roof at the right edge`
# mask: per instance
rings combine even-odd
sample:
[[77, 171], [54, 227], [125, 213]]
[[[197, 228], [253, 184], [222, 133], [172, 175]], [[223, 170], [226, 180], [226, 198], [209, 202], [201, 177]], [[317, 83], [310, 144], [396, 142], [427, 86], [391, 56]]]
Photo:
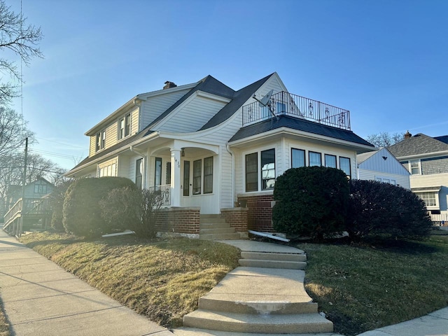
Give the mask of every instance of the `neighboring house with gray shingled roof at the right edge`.
[[410, 172], [411, 190], [426, 203], [434, 222], [448, 221], [448, 136], [407, 132], [388, 150]]

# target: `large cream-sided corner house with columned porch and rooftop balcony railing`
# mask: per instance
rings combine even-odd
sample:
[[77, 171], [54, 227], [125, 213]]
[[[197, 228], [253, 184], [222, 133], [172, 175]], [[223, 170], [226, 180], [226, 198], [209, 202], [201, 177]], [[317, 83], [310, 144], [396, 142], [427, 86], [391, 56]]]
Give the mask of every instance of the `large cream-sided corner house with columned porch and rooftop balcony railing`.
[[90, 154], [66, 176], [125, 176], [161, 190], [176, 213], [164, 221], [177, 226], [165, 230], [193, 234], [199, 214], [221, 214], [239, 231], [272, 231], [277, 176], [323, 165], [356, 178], [356, 155], [374, 148], [350, 130], [349, 111], [288, 93], [277, 73], [237, 91], [212, 76], [166, 82], [85, 135]]

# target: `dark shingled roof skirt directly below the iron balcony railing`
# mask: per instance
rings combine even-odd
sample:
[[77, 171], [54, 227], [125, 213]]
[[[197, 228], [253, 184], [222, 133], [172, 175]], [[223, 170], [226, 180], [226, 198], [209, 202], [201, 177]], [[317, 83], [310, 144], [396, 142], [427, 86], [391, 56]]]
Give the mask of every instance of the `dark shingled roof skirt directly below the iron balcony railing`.
[[248, 125], [246, 127], [242, 127], [239, 131], [230, 139], [230, 142], [237, 141], [240, 139], [244, 139], [247, 137], [251, 137], [255, 134], [260, 134], [263, 132], [268, 132], [270, 130], [275, 130], [281, 127], [287, 127], [293, 130], [309, 132], [312, 134], [323, 135], [325, 137], [331, 137], [334, 139], [344, 140], [353, 142], [355, 144], [361, 144], [365, 146], [374, 146], [370, 144], [370, 142], [365, 141], [363, 138], [358, 137], [358, 135], [354, 134], [349, 130], [342, 130], [337, 127], [332, 127], [328, 125], [323, 125], [319, 123], [314, 123], [309, 120], [294, 118], [289, 116], [279, 116], [279, 120], [276, 118], [264, 120], [260, 123], [255, 123], [252, 125]]

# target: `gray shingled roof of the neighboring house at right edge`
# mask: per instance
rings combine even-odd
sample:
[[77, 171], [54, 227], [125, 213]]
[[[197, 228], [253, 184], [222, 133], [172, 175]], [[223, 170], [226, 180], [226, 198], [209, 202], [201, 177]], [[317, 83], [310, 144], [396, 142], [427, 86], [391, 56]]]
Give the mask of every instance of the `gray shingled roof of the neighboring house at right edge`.
[[448, 151], [448, 144], [438, 140], [437, 138], [428, 137], [425, 134], [419, 133], [408, 139], [403, 139], [397, 144], [388, 146], [387, 149], [395, 156], [395, 158]]

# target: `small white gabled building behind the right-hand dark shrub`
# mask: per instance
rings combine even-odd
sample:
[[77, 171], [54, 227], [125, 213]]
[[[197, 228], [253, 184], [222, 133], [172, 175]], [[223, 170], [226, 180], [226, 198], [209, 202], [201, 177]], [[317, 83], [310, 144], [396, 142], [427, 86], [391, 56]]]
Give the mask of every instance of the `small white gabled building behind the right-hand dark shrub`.
[[391, 183], [410, 189], [409, 172], [387, 148], [356, 155], [360, 180]]

